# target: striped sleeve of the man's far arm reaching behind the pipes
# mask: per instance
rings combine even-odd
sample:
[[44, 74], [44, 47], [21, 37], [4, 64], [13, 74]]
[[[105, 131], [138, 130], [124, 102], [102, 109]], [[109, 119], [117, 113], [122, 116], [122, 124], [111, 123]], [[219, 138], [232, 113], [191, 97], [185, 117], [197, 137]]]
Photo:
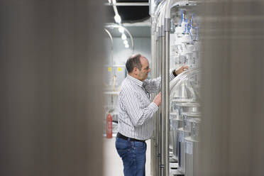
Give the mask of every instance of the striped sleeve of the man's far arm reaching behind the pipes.
[[[172, 73], [173, 70], [174, 69], [170, 70], [170, 81], [175, 78], [175, 76]], [[155, 79], [145, 79], [143, 81], [143, 87], [145, 87], [145, 90], [148, 93], [158, 92], [160, 90], [160, 87], [161, 87], [161, 77], [157, 77]]]

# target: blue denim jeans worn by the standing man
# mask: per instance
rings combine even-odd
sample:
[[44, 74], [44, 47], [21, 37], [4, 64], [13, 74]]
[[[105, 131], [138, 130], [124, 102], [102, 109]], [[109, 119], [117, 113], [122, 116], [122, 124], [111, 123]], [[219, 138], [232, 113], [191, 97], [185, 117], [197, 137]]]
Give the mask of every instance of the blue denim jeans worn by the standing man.
[[116, 150], [123, 160], [125, 176], [145, 176], [145, 142], [130, 141], [116, 137]]

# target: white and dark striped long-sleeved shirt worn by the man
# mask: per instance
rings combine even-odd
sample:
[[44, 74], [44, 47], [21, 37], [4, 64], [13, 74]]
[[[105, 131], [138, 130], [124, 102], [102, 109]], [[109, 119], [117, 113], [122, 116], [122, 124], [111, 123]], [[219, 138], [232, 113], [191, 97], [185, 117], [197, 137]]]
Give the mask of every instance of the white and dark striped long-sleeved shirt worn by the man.
[[[170, 71], [170, 80], [175, 78]], [[143, 82], [128, 75], [119, 92], [119, 133], [128, 138], [147, 140], [153, 134], [153, 114], [158, 106], [150, 101], [150, 93], [160, 90], [161, 78]]]

